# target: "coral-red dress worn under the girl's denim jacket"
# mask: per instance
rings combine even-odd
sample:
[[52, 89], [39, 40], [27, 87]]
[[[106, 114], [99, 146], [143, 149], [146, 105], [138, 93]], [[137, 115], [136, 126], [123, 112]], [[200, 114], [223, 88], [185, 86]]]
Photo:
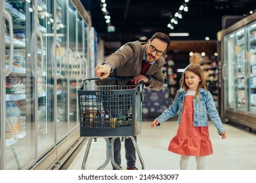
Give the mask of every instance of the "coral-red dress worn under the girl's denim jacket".
[[193, 126], [194, 95], [186, 95], [177, 134], [169, 143], [168, 150], [186, 156], [207, 156], [213, 154], [208, 126]]

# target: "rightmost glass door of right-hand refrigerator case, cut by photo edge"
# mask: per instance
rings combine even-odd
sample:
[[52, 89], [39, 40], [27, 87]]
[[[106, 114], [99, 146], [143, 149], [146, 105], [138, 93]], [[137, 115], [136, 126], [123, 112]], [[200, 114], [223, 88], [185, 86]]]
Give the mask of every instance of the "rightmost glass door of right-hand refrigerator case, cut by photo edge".
[[247, 27], [249, 112], [256, 113], [256, 23]]

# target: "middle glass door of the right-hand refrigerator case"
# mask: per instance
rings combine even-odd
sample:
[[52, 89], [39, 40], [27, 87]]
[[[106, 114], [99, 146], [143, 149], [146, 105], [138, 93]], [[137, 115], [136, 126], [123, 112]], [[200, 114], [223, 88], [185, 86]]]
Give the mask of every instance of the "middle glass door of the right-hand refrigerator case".
[[235, 65], [236, 65], [236, 108], [246, 110], [246, 71], [245, 71], [245, 29], [236, 31]]

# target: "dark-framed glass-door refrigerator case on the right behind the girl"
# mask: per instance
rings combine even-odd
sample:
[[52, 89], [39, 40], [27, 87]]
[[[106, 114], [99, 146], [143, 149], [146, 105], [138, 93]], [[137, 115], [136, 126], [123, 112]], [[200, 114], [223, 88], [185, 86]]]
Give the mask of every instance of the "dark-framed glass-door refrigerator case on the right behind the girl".
[[223, 120], [256, 129], [256, 13], [223, 29], [219, 35]]

